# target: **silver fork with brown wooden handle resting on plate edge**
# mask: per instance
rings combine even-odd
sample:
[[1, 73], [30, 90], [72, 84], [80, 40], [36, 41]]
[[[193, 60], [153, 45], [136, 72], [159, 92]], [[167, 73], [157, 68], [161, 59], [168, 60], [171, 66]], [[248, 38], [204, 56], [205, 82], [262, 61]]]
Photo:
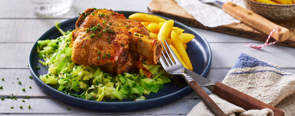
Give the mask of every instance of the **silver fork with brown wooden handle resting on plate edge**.
[[[165, 40], [164, 40], [165, 41]], [[163, 42], [161, 41], [162, 46], [164, 46]], [[165, 41], [165, 44], [169, 50], [169, 53], [171, 54], [172, 58], [175, 62], [171, 59], [169, 53], [167, 52], [166, 48], [164, 48], [165, 53], [167, 53], [167, 56], [169, 59], [165, 57], [165, 54], [162, 50], [162, 55], [160, 57], [160, 63], [162, 64], [163, 68], [166, 72], [168, 72], [171, 75], [181, 75], [185, 78], [186, 82], [189, 86], [196, 92], [196, 94], [204, 101], [204, 103], [209, 107], [209, 109], [217, 116], [226, 116], [224, 112], [213, 102], [213, 100], [208, 96], [208, 94], [199, 86], [196, 81], [191, 78], [191, 76], [184, 73], [185, 68], [181, 64], [181, 62], [178, 60], [168, 43]], [[165, 59], [165, 60], [164, 60]], [[166, 64], [166, 65], [165, 65]]]

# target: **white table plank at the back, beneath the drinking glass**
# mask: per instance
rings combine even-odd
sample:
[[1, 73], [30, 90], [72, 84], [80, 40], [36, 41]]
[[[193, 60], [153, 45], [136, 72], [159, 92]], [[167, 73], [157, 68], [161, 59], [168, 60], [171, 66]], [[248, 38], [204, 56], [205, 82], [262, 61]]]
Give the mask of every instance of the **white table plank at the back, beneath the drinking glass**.
[[[1, 0], [0, 11], [5, 11], [0, 19], [69, 19], [79, 16], [78, 13], [88, 8], [106, 8], [112, 10], [147, 12], [151, 0], [73, 0], [72, 9], [63, 15], [46, 17], [34, 14], [30, 9], [29, 0]], [[19, 9], [21, 8], [21, 9]]]

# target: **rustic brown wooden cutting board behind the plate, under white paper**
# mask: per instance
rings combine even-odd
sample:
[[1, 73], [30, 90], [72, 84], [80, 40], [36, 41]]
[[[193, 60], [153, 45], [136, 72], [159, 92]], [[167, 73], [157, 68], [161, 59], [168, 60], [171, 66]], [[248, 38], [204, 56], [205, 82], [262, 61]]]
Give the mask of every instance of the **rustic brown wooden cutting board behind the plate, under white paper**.
[[[178, 6], [176, 1], [174, 0], [153, 0], [148, 5], [148, 12], [158, 14], [164, 17], [169, 17], [188, 26], [255, 39], [258, 41], [265, 42], [268, 37], [268, 35], [261, 33], [260, 31], [253, 29], [242, 22], [232, 23], [229, 25], [222, 25], [214, 28], [206, 27], [202, 25], [200, 22], [198, 22], [193, 16], [186, 13], [186, 11], [180, 6]], [[278, 42], [276, 44], [295, 48], [295, 19], [285, 22], [274, 23], [281, 25], [285, 28], [288, 28], [290, 30], [290, 38], [286, 41]], [[271, 38], [269, 43], [273, 41], [275, 41], [275, 39]]]

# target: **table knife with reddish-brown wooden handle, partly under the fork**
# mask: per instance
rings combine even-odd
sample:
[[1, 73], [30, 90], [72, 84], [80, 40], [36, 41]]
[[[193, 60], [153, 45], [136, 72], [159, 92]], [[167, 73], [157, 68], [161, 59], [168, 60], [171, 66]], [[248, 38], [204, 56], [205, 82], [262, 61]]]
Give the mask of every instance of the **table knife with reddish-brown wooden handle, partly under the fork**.
[[211, 81], [186, 68], [184, 68], [184, 73], [191, 76], [191, 78], [193, 78], [193, 80], [195, 80], [199, 86], [208, 88], [212, 93], [220, 96], [232, 104], [235, 104], [238, 107], [242, 107], [245, 110], [269, 108], [273, 110], [274, 116], [285, 115], [281, 110], [261, 102], [260, 100], [255, 99], [247, 94], [244, 94], [241, 91], [224, 85], [223, 83]]

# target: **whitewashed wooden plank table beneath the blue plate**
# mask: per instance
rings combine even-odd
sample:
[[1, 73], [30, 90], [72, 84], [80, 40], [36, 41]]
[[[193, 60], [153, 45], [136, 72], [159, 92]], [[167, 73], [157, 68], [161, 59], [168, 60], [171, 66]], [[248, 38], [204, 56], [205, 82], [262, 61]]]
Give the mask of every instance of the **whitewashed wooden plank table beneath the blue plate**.
[[[29, 79], [30, 72], [27, 67], [30, 49], [35, 41], [54, 22], [77, 17], [78, 13], [87, 8], [106, 8], [113, 10], [128, 10], [147, 12], [151, 0], [138, 1], [78, 1], [75, 0], [73, 8], [67, 14], [57, 17], [42, 17], [34, 14], [27, 0], [1, 0], [0, 1], [0, 97], [16, 96], [17, 100], [0, 100], [0, 115], [179, 115], [187, 114], [200, 98], [191, 93], [188, 96], [160, 107], [132, 112], [98, 112], [73, 107], [60, 102], [45, 94], [34, 82]], [[208, 79], [222, 81], [227, 72], [235, 64], [240, 53], [249, 54], [260, 60], [273, 62], [278, 67], [295, 73], [295, 49], [279, 45], [267, 46], [261, 50], [245, 47], [246, 43], [263, 44], [247, 38], [231, 36], [194, 28], [206, 38], [212, 50], [212, 66]], [[17, 80], [17, 78], [19, 78]], [[21, 81], [22, 84], [18, 84]], [[32, 86], [30, 89], [29, 86]], [[26, 91], [22, 91], [25, 88]], [[211, 92], [204, 89], [208, 94]], [[12, 95], [13, 93], [13, 95]], [[30, 99], [23, 99], [30, 96]], [[195, 99], [196, 98], [196, 99]], [[25, 100], [25, 102], [22, 102]], [[31, 106], [28, 109], [28, 106]], [[22, 109], [19, 107], [23, 106]], [[11, 109], [10, 107], [14, 107]], [[71, 110], [67, 110], [70, 108]]]

